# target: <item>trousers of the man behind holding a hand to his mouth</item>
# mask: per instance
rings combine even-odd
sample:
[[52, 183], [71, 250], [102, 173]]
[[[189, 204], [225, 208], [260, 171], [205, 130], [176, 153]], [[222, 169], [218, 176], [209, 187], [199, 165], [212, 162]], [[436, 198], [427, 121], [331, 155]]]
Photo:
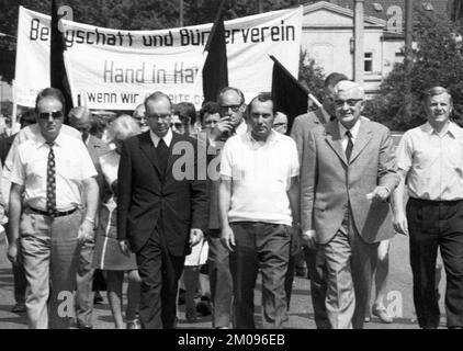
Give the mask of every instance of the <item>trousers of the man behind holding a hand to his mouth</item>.
[[233, 281], [228, 250], [222, 244], [219, 235], [219, 229], [207, 233], [207, 267], [213, 303], [212, 326], [214, 328], [229, 327], [232, 321]]

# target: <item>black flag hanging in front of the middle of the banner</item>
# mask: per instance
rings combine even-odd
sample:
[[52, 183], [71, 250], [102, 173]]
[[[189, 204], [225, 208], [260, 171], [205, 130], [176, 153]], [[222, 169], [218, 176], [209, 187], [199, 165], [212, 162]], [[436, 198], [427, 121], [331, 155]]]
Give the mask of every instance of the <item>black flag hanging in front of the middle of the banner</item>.
[[204, 52], [207, 58], [203, 68], [204, 101], [216, 101], [222, 88], [228, 87], [227, 47], [225, 44], [224, 3], [218, 7], [217, 16], [212, 26], [211, 34]]

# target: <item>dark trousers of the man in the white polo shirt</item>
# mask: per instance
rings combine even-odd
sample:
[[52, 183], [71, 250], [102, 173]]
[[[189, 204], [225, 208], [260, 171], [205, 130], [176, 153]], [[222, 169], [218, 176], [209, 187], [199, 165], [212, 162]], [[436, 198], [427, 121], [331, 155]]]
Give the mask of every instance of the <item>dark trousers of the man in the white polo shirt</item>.
[[266, 223], [230, 224], [235, 248], [230, 252], [234, 319], [238, 329], [255, 329], [253, 290], [262, 274], [262, 327], [282, 328], [286, 313], [284, 280], [290, 260], [291, 227]]

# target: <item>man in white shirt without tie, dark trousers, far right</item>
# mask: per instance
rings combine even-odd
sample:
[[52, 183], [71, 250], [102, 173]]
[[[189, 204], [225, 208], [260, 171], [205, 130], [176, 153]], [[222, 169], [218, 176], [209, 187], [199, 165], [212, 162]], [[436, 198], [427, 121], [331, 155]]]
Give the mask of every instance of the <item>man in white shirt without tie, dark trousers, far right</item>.
[[[452, 97], [442, 87], [426, 92], [428, 122], [405, 133], [397, 148], [400, 184], [394, 193], [395, 228], [410, 236], [414, 301], [419, 326], [440, 322], [436, 259], [447, 272], [447, 324], [463, 328], [463, 129], [450, 121]], [[404, 206], [405, 181], [410, 195]]]

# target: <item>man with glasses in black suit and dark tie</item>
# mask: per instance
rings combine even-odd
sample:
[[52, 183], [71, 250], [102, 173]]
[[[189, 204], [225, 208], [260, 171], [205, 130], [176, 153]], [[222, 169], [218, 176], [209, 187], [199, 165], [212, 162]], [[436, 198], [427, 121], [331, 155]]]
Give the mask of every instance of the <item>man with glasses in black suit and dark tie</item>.
[[[184, 258], [207, 229], [207, 183], [195, 178], [196, 141], [170, 128], [169, 97], [155, 92], [145, 107], [150, 131], [125, 140], [122, 147], [117, 239], [124, 252], [129, 249], [137, 257], [142, 326], [174, 328]], [[193, 155], [188, 155], [192, 149]], [[181, 150], [187, 154], [180, 155]], [[188, 177], [178, 167], [185, 157]]]

